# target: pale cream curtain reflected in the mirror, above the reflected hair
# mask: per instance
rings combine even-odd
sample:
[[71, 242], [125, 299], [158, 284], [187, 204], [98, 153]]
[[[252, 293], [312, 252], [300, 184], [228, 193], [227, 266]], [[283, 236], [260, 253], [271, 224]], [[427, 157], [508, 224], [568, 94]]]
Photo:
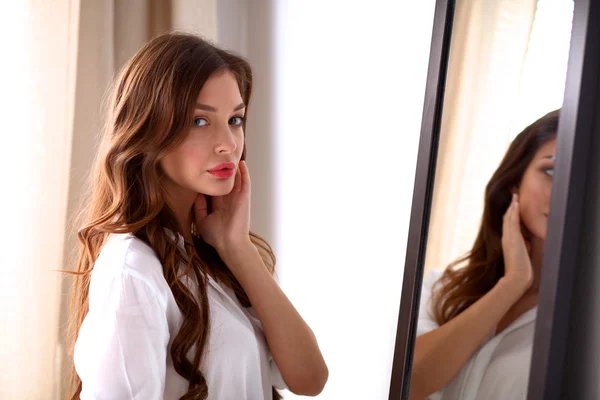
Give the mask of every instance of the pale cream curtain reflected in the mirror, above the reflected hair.
[[511, 137], [535, 0], [458, 0], [425, 269], [470, 250], [485, 185]]

